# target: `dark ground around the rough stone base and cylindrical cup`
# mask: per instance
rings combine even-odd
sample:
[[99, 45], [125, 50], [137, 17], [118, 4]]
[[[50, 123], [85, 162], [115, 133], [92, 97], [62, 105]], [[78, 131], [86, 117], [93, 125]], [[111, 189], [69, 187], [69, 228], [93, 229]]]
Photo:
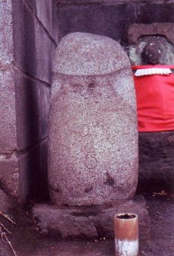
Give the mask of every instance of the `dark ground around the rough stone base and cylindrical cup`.
[[[174, 204], [171, 196], [154, 194], [145, 196], [151, 216], [151, 241], [140, 243], [139, 256], [174, 255]], [[114, 241], [104, 238], [90, 241], [80, 239], [54, 239], [43, 237], [30, 218], [18, 213], [17, 226], [5, 222], [11, 229], [9, 235], [17, 256], [113, 256]], [[11, 249], [2, 243], [1, 256], [11, 256]], [[1, 246], [0, 246], [1, 247]], [[8, 251], [8, 253], [7, 253]]]

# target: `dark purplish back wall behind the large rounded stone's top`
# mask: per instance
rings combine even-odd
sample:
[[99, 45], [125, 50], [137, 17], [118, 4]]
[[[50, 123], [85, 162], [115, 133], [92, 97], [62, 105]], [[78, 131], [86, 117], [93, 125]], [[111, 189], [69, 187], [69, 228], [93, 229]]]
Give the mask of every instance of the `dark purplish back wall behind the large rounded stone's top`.
[[96, 33], [121, 41], [130, 24], [174, 21], [172, 0], [57, 0], [60, 37]]

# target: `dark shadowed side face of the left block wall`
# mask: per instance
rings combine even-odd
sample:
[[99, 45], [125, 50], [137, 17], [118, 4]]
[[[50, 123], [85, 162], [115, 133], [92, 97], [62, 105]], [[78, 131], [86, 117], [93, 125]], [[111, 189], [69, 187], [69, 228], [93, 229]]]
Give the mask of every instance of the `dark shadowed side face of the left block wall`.
[[20, 201], [46, 198], [51, 63], [58, 41], [54, 1], [13, 1]]

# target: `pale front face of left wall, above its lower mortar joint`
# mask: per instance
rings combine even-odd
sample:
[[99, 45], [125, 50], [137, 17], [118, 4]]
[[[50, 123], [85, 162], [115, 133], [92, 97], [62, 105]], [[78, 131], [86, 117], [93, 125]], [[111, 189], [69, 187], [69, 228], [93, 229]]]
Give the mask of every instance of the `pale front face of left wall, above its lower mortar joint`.
[[11, 1], [0, 2], [0, 31], [0, 153], [6, 153], [14, 150], [17, 144]]

